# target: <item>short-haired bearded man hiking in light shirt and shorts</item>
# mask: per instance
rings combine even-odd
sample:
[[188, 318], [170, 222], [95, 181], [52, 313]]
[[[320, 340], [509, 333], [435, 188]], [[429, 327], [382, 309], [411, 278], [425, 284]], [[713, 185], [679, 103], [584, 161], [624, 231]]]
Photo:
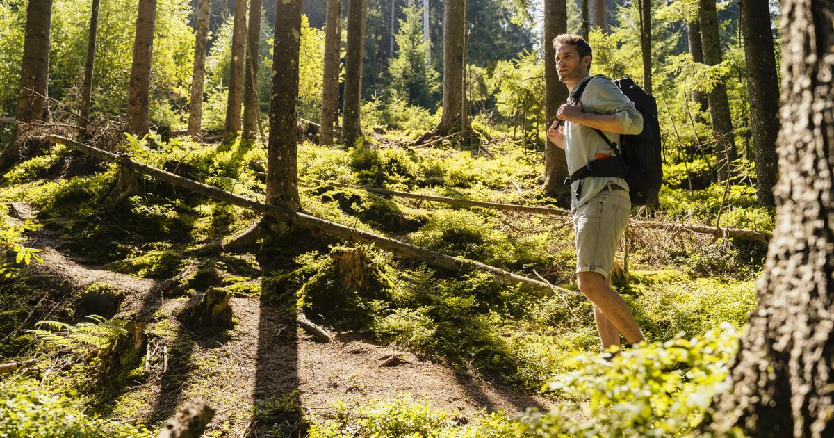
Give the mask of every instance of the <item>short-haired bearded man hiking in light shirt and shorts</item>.
[[[556, 112], [556, 118], [564, 124], [554, 122], [547, 138], [565, 149], [568, 169], [574, 174], [590, 161], [614, 153], [600, 133], [610, 143], [619, 144], [619, 134], [641, 133], [643, 117], [610, 79], [590, 77], [591, 50], [583, 38], [563, 33], [554, 38], [553, 47], [559, 80], [570, 90], [571, 98]], [[579, 89], [580, 102], [571, 104]], [[602, 347], [619, 347], [620, 334], [630, 344], [645, 340], [628, 305], [611, 289], [614, 253], [631, 214], [628, 184], [621, 178], [589, 176], [573, 181], [570, 189], [577, 284], [594, 303]]]

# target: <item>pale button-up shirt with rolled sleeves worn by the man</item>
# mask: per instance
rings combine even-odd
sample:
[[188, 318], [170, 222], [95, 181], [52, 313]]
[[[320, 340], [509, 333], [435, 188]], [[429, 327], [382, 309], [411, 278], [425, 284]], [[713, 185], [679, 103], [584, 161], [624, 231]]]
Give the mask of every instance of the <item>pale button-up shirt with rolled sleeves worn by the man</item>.
[[[590, 80], [590, 83], [582, 92], [580, 102], [582, 103], [582, 110], [585, 113], [595, 114], [615, 114], [617, 121], [623, 128], [626, 134], [636, 135], [643, 131], [643, 116], [634, 107], [629, 98], [625, 97], [617, 88], [614, 82], [609, 78], [602, 76], [592, 76], [585, 79]], [[584, 82], [584, 81], [583, 81]], [[582, 83], [578, 83], [578, 89]], [[572, 102], [572, 93], [571, 99]], [[568, 171], [573, 174], [577, 169], [584, 167], [590, 161], [598, 158], [609, 157], [612, 155], [608, 143], [596, 133], [594, 128], [580, 125], [578, 123], [571, 123], [565, 121], [565, 158], [568, 163]], [[616, 143], [617, 152], [620, 153], [620, 134], [605, 133], [611, 143]], [[576, 198], [576, 190], [579, 187], [580, 181], [575, 181], [570, 184], [570, 209], [575, 210], [582, 204], [588, 202], [600, 190], [605, 188], [609, 182], [619, 185], [623, 189], [628, 189], [628, 184], [625, 179], [612, 177], [588, 177], [582, 182], [582, 191], [579, 199]]]

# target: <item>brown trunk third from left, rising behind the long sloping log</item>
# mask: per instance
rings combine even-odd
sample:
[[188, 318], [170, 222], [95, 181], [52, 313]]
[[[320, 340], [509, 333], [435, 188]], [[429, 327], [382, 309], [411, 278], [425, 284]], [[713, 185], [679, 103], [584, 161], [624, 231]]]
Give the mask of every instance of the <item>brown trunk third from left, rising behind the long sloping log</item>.
[[148, 133], [148, 92], [151, 82], [153, 26], [156, 22], [156, 0], [139, 0], [136, 18], [136, 39], [133, 43], [133, 67], [128, 89], [128, 133], [142, 137]]

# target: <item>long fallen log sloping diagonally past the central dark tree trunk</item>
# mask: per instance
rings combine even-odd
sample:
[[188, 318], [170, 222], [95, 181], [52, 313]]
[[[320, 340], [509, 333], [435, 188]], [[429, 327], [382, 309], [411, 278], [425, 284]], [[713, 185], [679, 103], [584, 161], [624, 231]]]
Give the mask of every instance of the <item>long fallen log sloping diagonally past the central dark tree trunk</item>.
[[238, 194], [232, 194], [225, 190], [218, 189], [208, 184], [198, 183], [197, 181], [183, 178], [162, 169], [148, 166], [147, 164], [138, 163], [124, 155], [111, 154], [107, 151], [103, 151], [102, 149], [94, 148], [93, 146], [89, 146], [84, 143], [78, 143], [69, 138], [63, 138], [58, 135], [47, 135], [44, 138], [53, 143], [65, 144], [70, 148], [92, 155], [98, 159], [118, 163], [119, 165], [132, 169], [140, 174], [147, 174], [148, 176], [152, 176], [153, 178], [159, 179], [168, 184], [173, 184], [178, 187], [182, 187], [183, 189], [191, 190], [194, 193], [218, 199], [227, 204], [237, 205], [239, 207], [244, 207], [245, 209], [253, 209], [263, 214], [278, 217], [279, 219], [289, 219], [295, 224], [298, 224], [306, 229], [332, 234], [344, 239], [374, 244], [379, 249], [384, 249], [394, 254], [399, 254], [411, 259], [417, 259], [425, 262], [426, 264], [430, 264], [438, 268], [450, 269], [459, 273], [471, 272], [475, 270], [484, 271], [492, 274], [501, 284], [520, 284], [526, 289], [529, 289], [530, 292], [535, 295], [549, 296], [553, 293], [550, 286], [545, 282], [536, 279], [529, 279], [519, 274], [513, 274], [504, 269], [495, 268], [495, 266], [490, 266], [474, 260], [462, 259], [452, 255], [441, 254], [431, 249], [421, 248], [420, 246], [407, 244], [379, 234], [369, 233], [361, 229], [354, 229], [342, 224], [336, 224], [334, 222], [330, 222], [329, 220], [319, 219], [309, 214], [282, 209], [281, 207], [273, 204], [257, 202], [249, 198], [244, 198]]

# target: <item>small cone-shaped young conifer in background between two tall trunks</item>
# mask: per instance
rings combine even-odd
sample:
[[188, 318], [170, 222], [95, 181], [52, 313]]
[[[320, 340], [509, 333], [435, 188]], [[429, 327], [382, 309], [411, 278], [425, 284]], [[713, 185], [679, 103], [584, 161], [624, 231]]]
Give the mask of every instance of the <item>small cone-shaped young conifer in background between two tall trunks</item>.
[[391, 87], [409, 105], [423, 108], [434, 106], [440, 89], [439, 75], [427, 64], [429, 41], [423, 38], [421, 8], [403, 8], [404, 20], [399, 20], [397, 56], [389, 63]]

